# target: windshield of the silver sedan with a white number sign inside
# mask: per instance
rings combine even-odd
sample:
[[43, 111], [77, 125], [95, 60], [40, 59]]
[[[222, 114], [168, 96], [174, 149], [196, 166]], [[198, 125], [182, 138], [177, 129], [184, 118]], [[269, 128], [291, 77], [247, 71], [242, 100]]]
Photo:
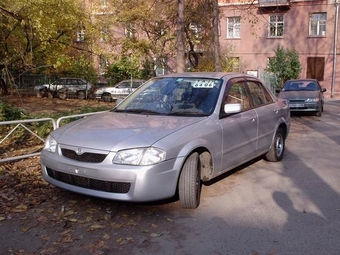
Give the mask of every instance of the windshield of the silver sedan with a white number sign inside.
[[207, 78], [154, 78], [113, 111], [136, 114], [207, 116], [216, 105], [222, 80]]

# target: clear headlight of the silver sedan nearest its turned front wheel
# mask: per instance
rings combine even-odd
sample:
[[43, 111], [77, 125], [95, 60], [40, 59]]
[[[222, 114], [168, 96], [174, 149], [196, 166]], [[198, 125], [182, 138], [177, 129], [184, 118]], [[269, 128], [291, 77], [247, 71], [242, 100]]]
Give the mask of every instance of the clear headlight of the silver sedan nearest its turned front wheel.
[[165, 151], [158, 148], [137, 148], [119, 151], [112, 163], [123, 165], [147, 166], [165, 160]]

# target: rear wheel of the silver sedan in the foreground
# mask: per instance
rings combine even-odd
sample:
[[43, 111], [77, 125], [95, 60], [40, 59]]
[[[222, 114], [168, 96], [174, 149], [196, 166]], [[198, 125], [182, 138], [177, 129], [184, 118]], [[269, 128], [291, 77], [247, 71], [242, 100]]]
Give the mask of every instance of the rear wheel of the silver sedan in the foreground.
[[273, 143], [269, 151], [265, 154], [265, 159], [270, 162], [278, 162], [283, 158], [285, 151], [285, 133], [282, 128], [275, 132]]

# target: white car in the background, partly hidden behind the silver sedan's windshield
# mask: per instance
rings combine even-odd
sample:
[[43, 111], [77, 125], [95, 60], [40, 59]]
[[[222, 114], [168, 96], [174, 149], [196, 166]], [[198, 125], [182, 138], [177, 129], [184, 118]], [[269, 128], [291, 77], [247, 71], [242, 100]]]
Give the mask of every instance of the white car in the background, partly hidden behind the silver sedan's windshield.
[[94, 92], [96, 99], [102, 99], [105, 102], [116, 101], [117, 99], [124, 99], [131, 92], [135, 91], [145, 80], [132, 79], [123, 80], [113, 87], [102, 87]]

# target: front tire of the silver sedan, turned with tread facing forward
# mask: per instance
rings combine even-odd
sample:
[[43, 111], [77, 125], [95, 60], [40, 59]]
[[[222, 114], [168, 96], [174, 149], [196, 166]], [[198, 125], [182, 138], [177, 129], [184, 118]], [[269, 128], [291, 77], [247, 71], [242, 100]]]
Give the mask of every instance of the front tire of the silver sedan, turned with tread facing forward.
[[182, 168], [179, 183], [178, 196], [180, 204], [186, 209], [195, 209], [200, 204], [201, 197], [201, 168], [197, 152], [191, 154]]

